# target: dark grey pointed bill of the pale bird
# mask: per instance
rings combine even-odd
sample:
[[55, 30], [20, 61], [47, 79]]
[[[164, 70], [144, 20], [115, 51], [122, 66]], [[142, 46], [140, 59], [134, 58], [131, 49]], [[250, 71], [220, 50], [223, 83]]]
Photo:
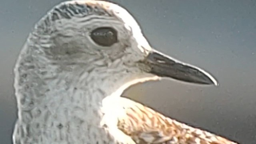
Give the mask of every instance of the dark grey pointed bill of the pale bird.
[[160, 54], [160, 52], [150, 52], [144, 62], [151, 68], [150, 73], [156, 74], [157, 76], [170, 77], [196, 84], [218, 85], [218, 82], [213, 76], [204, 70], [164, 56], [164, 54]]

